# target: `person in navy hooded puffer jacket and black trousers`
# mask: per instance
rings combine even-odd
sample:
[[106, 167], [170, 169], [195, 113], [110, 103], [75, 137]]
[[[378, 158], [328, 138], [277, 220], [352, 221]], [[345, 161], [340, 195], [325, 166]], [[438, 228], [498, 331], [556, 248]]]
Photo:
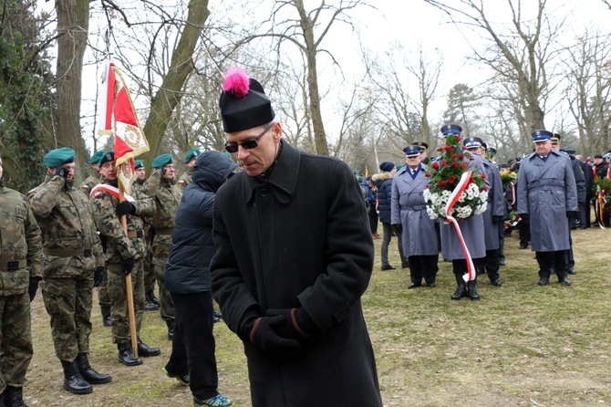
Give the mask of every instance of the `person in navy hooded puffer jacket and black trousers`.
[[217, 391], [210, 261], [214, 196], [237, 165], [218, 151], [204, 151], [192, 168], [192, 181], [176, 212], [165, 271], [176, 318], [171, 356], [163, 371], [191, 387], [193, 405], [231, 406], [233, 401]]

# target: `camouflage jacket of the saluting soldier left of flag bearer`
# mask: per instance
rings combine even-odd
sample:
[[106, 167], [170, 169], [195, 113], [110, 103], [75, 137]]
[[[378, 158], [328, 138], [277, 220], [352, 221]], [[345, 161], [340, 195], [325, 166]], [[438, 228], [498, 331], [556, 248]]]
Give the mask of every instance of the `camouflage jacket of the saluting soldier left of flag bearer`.
[[72, 183], [47, 173], [27, 193], [43, 241], [44, 277], [75, 277], [104, 266], [104, 254], [87, 197]]

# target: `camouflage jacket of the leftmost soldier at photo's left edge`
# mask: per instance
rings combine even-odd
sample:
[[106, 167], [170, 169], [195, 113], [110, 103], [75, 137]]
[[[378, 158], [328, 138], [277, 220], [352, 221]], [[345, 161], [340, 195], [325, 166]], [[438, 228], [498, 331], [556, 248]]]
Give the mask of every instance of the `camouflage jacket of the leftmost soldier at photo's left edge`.
[[42, 277], [40, 228], [21, 193], [0, 180], [0, 296], [27, 291], [30, 277]]

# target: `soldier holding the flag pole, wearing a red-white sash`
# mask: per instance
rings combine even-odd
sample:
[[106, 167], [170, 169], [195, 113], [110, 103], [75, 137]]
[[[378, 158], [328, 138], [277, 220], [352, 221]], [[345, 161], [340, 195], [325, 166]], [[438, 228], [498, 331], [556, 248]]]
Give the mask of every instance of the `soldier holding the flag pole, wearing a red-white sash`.
[[[91, 194], [91, 209], [100, 235], [106, 237], [106, 274], [109, 278], [109, 294], [112, 301], [112, 341], [119, 349], [119, 361], [126, 366], [142, 364], [134, 357], [129, 333], [128, 292], [125, 276], [131, 274], [131, 286], [138, 335], [138, 354], [143, 357], [157, 356], [161, 350], [150, 348], [140, 339], [142, 314], [144, 313], [144, 270], [142, 257], [146, 246], [140, 215], [154, 214], [155, 201], [143, 193], [134, 191], [124, 202], [119, 203], [115, 154], [107, 151], [99, 160], [100, 183]], [[128, 232], [123, 230], [119, 216], [126, 215]]]

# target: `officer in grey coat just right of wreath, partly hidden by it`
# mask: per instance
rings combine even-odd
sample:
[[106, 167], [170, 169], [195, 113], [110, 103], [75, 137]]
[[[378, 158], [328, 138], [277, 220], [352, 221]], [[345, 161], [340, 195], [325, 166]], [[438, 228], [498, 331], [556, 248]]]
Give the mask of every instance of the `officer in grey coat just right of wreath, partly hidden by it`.
[[[483, 170], [486, 174], [488, 184], [488, 205], [483, 216], [483, 230], [486, 241], [485, 260], [478, 264], [477, 274], [488, 273], [488, 278], [494, 287], [501, 287], [499, 268], [499, 224], [502, 223], [502, 216], [505, 211], [505, 202], [502, 196], [501, 172], [496, 163], [484, 157], [484, 142], [479, 137], [469, 137], [462, 141], [462, 145], [472, 154], [477, 154], [482, 158]], [[485, 269], [485, 270], [484, 270]]]

